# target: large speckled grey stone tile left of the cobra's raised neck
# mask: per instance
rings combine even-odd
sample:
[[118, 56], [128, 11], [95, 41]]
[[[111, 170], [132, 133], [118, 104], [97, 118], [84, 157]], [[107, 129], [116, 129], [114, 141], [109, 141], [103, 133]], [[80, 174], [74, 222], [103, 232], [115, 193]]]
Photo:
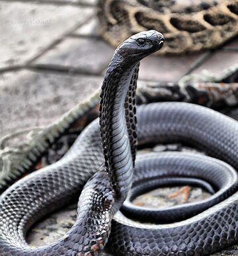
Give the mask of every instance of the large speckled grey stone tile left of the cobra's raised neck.
[[0, 75], [0, 138], [56, 120], [100, 87], [100, 77], [21, 70]]

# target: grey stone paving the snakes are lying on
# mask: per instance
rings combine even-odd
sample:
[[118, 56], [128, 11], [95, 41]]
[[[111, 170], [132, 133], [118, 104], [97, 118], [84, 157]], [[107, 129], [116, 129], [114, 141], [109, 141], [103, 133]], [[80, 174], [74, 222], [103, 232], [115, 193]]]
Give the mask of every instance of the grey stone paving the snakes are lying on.
[[[0, 137], [50, 124], [100, 86], [114, 49], [99, 36], [96, 2], [0, 0]], [[236, 38], [216, 51], [146, 58], [139, 79], [178, 81], [203, 69], [220, 73], [237, 60]], [[72, 207], [48, 218], [30, 233], [30, 243], [54, 240], [73, 218]]]

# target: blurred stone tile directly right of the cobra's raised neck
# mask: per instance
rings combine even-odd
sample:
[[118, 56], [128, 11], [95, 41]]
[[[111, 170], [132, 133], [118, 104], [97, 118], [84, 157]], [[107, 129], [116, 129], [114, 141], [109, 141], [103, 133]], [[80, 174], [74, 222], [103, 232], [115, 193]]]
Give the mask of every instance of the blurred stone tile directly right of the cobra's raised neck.
[[180, 79], [202, 54], [186, 56], [151, 56], [141, 61], [139, 79], [175, 82]]

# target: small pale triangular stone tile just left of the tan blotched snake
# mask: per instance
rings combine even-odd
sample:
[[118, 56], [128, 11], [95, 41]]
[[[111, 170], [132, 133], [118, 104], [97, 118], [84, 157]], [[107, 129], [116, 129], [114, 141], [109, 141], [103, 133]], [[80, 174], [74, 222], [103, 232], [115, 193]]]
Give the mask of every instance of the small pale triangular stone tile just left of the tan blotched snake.
[[99, 36], [99, 28], [99, 19], [93, 17], [93, 19], [77, 28], [73, 34], [76, 34], [77, 36]]

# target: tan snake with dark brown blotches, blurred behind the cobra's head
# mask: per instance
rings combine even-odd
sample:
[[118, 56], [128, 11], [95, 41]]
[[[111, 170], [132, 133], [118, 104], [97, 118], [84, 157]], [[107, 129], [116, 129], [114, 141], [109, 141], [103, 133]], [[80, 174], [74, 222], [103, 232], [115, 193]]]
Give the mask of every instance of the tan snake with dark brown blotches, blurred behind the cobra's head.
[[159, 53], [217, 48], [238, 34], [237, 0], [100, 0], [100, 35], [112, 46], [141, 30], [161, 31]]

